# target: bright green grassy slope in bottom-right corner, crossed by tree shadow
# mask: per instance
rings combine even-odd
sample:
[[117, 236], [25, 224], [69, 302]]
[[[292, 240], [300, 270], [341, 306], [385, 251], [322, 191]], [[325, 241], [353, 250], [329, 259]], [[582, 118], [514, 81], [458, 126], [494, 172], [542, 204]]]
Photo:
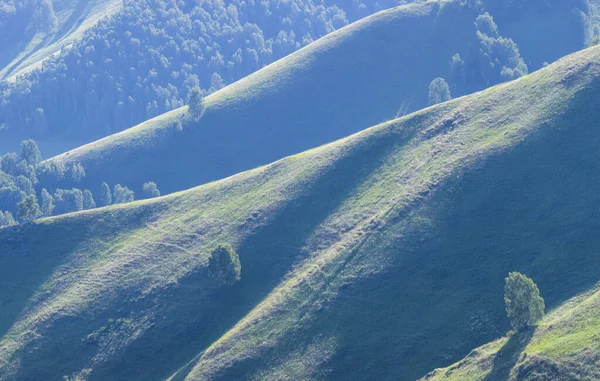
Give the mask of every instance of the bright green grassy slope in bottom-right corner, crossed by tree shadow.
[[473, 350], [423, 380], [597, 380], [600, 378], [600, 292], [570, 299], [534, 332], [521, 332]]

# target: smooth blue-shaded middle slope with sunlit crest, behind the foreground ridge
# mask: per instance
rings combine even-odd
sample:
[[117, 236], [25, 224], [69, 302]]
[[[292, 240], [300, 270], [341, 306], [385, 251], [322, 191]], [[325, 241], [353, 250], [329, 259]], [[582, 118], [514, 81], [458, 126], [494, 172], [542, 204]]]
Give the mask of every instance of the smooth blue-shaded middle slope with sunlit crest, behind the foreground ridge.
[[334, 32], [207, 98], [198, 124], [178, 131], [184, 109], [83, 146], [85, 186], [102, 181], [166, 192], [264, 165], [393, 119], [403, 103], [427, 105], [428, 85], [475, 38], [478, 12], [418, 2]]

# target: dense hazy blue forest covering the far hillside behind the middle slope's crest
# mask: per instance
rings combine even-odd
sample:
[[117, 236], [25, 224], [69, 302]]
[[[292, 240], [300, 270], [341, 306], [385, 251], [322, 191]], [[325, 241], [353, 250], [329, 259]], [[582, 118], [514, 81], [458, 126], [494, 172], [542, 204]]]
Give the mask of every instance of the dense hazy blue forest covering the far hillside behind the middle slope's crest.
[[0, 126], [104, 136], [182, 106], [201, 84], [206, 94], [219, 90], [401, 2], [125, 0], [41, 68], [0, 84]]

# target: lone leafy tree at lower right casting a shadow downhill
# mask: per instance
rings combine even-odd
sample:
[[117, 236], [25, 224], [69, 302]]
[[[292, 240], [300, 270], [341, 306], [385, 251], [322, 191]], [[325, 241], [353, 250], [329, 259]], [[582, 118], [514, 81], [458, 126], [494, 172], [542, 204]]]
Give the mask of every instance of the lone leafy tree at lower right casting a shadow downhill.
[[544, 299], [531, 278], [511, 272], [504, 287], [506, 314], [515, 330], [529, 328], [544, 316]]

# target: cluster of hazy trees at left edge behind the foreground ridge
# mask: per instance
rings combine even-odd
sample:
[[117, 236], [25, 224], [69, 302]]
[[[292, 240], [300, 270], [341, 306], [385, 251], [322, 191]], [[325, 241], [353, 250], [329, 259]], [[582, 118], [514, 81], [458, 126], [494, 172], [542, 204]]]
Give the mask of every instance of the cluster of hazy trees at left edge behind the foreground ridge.
[[[35, 141], [23, 141], [18, 155], [8, 153], [0, 157], [0, 227], [135, 199], [134, 192], [121, 184], [111, 191], [107, 183], [102, 183], [98, 202], [89, 189], [58, 188], [61, 181], [77, 184], [84, 178], [85, 168], [81, 164], [65, 168], [57, 162], [42, 162]], [[154, 182], [144, 184], [143, 191], [146, 198], [160, 196]]]

